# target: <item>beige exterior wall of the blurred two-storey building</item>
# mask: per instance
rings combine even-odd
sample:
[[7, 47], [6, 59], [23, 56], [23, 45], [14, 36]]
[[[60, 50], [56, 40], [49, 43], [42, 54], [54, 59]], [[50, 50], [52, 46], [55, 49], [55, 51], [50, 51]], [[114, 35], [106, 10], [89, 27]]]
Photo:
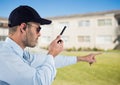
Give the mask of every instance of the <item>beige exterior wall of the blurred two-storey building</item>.
[[[113, 41], [117, 37], [116, 30], [119, 25], [114, 12], [51, 17], [49, 19], [52, 20], [52, 24], [41, 26], [41, 37], [37, 47], [47, 47], [60, 34], [64, 26], [67, 26], [62, 35], [65, 48], [107, 50], [116, 46]], [[0, 36], [7, 36], [7, 34], [8, 29], [1, 27]]]

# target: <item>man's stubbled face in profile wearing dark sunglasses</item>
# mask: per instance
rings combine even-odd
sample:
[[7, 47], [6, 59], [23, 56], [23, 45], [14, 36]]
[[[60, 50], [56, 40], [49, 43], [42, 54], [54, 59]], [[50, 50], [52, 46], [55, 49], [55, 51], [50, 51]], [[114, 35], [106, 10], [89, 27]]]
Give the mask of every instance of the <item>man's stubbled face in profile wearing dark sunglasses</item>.
[[28, 23], [26, 29], [26, 35], [24, 39], [25, 46], [35, 47], [38, 43], [38, 38], [40, 36], [40, 24], [38, 23]]

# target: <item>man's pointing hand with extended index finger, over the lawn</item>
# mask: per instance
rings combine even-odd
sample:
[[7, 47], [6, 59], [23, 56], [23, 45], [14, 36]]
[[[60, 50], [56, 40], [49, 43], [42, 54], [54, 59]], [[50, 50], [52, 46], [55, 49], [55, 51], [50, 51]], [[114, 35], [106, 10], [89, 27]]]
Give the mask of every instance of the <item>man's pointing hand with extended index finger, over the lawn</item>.
[[78, 56], [77, 57], [77, 61], [85, 61], [88, 62], [90, 65], [93, 64], [94, 62], [96, 62], [95, 56], [99, 55], [101, 53], [92, 53], [83, 57]]

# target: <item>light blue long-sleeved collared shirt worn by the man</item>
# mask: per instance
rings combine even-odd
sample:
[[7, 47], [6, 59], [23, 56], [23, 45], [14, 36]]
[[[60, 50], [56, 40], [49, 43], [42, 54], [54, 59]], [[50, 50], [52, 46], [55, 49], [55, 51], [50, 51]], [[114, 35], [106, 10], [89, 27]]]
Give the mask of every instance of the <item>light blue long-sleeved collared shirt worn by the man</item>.
[[[26, 56], [26, 58], [23, 58]], [[30, 54], [10, 38], [0, 42], [0, 80], [10, 85], [51, 85], [56, 68], [75, 64], [75, 56]]]

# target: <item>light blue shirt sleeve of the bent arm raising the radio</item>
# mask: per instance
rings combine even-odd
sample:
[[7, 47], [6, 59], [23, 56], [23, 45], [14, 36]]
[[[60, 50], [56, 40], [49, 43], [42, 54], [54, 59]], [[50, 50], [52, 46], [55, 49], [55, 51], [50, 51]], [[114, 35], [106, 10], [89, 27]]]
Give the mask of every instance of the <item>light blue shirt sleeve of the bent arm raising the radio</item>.
[[[37, 66], [36, 70], [36, 82], [41, 82], [40, 85], [51, 85], [56, 75], [53, 56], [48, 55], [44, 63]], [[35, 85], [37, 85], [36, 82]]]

